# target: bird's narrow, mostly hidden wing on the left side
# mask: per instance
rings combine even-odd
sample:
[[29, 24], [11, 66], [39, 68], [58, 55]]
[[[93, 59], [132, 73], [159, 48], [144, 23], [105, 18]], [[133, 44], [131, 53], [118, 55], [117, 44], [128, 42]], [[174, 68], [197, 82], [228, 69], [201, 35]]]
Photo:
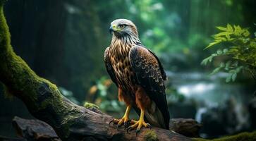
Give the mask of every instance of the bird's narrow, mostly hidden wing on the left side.
[[107, 47], [104, 52], [104, 62], [105, 62], [105, 66], [106, 66], [106, 71], [109, 73], [111, 80], [116, 84], [116, 86], [118, 86], [117, 80], [116, 80], [116, 75], [114, 73], [114, 69], [113, 69], [110, 59], [109, 59], [109, 47]]

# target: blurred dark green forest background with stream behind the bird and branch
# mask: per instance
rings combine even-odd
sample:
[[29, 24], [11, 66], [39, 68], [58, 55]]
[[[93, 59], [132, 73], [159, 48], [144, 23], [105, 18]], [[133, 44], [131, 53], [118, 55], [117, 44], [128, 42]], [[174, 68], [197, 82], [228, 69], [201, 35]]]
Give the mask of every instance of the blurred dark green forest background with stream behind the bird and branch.
[[[200, 135], [212, 138], [256, 129], [255, 82], [247, 73], [225, 82], [228, 73], [209, 75], [221, 62], [200, 63], [216, 49], [216, 26], [240, 25], [256, 31], [255, 0], [9, 0], [5, 6], [12, 45], [37, 75], [83, 105], [92, 102], [116, 118], [125, 105], [104, 68], [111, 42], [109, 25], [127, 18], [140, 39], [163, 63], [171, 118], [195, 118]], [[205, 50], [204, 50], [205, 49]], [[32, 118], [19, 99], [0, 87], [0, 135], [15, 136], [13, 116]], [[133, 118], [138, 118], [135, 112]]]

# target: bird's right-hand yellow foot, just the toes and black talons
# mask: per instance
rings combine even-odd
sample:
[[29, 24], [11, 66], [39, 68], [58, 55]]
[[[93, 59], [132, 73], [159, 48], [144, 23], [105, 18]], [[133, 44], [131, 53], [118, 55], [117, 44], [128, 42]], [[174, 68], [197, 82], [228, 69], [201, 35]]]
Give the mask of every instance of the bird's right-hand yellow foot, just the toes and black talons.
[[133, 125], [130, 125], [128, 128], [127, 128], [127, 133], [129, 133], [129, 131], [130, 130], [133, 130], [133, 129], [135, 129], [135, 128], [137, 128], [136, 129], [136, 135], [140, 132], [140, 129], [142, 128], [142, 127], [145, 127], [145, 128], [152, 128], [152, 126], [150, 125], [150, 123], [145, 123], [145, 121], [144, 120], [142, 120], [142, 119], [140, 119], [139, 121], [133, 121], [133, 120], [131, 120], [130, 121], [130, 123], [131, 124], [133, 124]]

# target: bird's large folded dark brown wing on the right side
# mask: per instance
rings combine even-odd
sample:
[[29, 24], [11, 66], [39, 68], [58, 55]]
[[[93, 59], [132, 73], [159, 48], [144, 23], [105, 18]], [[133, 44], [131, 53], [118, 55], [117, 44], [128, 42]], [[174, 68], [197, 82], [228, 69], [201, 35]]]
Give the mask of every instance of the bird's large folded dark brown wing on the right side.
[[138, 45], [130, 49], [129, 59], [138, 84], [157, 105], [164, 117], [165, 128], [169, 129], [170, 116], [164, 86], [166, 74], [159, 59], [152, 54], [152, 51]]

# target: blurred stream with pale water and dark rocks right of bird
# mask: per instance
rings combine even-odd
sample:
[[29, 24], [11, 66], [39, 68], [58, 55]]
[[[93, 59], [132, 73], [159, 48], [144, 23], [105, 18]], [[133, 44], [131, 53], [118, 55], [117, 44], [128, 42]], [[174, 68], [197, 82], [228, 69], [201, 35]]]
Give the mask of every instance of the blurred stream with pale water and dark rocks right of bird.
[[[227, 73], [209, 76], [200, 72], [167, 72], [167, 75], [171, 85], [186, 99], [184, 103], [187, 108], [183, 108], [186, 109], [184, 112], [190, 113], [181, 114], [181, 109], [178, 115], [182, 115], [181, 118], [195, 118], [203, 123], [200, 132], [202, 137], [219, 137], [251, 128], [248, 102], [252, 99], [252, 92], [239, 83], [226, 83]], [[177, 108], [173, 109], [175, 114]], [[191, 114], [188, 111], [195, 112]]]

